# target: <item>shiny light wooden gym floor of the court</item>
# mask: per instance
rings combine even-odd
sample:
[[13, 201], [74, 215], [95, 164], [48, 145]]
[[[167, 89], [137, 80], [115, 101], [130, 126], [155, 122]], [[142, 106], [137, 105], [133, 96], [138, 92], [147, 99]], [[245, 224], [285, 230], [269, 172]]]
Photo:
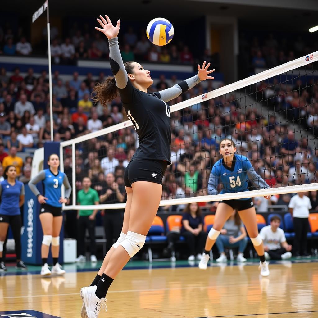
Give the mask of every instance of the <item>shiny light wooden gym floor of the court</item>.
[[[194, 267], [178, 267], [177, 263], [175, 268], [124, 270], [107, 294], [108, 312], [101, 312], [100, 317], [318, 317], [317, 261], [272, 263], [268, 278], [259, 276], [257, 263], [213, 263], [206, 271], [200, 271], [197, 263]], [[2, 274], [0, 317], [3, 312], [31, 309], [49, 314], [36, 317], [80, 317], [79, 290], [95, 277], [92, 270], [67, 270], [64, 277], [50, 278]]]

